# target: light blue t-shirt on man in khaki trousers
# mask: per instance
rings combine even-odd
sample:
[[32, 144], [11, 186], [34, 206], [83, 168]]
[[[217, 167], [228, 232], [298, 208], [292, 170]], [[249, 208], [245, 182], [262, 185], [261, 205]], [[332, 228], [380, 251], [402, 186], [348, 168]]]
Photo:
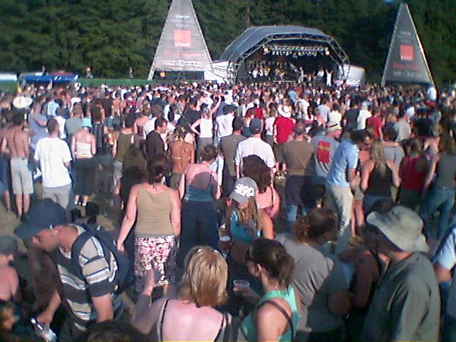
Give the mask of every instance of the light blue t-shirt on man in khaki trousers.
[[334, 154], [331, 169], [326, 177], [326, 183], [333, 187], [350, 187], [347, 180], [348, 169], [356, 169], [358, 165], [359, 148], [351, 140], [343, 140]]

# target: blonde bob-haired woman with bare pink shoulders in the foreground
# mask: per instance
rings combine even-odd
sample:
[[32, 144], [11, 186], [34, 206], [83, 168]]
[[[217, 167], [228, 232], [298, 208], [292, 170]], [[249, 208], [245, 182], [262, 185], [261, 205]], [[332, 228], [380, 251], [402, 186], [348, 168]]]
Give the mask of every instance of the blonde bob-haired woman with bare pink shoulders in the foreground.
[[[185, 257], [185, 273], [177, 299], [151, 304], [155, 272], [147, 274], [132, 323], [152, 341], [233, 341], [232, 317], [214, 309], [227, 300], [228, 266], [222, 255], [196, 246]], [[178, 328], [177, 328], [178, 327]]]

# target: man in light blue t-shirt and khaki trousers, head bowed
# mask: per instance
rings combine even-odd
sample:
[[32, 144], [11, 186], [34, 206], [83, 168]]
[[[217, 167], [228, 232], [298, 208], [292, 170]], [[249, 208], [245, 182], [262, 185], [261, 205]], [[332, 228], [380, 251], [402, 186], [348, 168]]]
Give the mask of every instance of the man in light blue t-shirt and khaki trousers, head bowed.
[[337, 147], [331, 169], [326, 177], [326, 202], [339, 214], [339, 238], [337, 252], [346, 249], [351, 237], [350, 219], [353, 207], [351, 183], [356, 178], [358, 153], [371, 147], [373, 138], [368, 130], [353, 130], [350, 139]]

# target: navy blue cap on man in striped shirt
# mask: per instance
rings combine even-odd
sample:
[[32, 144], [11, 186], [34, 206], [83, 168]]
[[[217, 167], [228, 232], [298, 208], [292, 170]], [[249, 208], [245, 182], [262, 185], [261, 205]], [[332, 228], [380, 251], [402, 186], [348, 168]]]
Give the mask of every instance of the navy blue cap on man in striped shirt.
[[30, 239], [44, 229], [66, 224], [66, 210], [52, 199], [41, 199], [28, 212], [28, 219], [14, 229], [21, 239]]

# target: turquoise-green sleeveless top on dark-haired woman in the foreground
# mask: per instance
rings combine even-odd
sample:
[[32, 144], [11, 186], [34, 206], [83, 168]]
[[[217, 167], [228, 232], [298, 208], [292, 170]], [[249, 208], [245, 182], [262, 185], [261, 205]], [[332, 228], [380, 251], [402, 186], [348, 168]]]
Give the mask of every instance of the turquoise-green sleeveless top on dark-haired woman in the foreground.
[[[279, 304], [270, 301], [270, 299], [277, 297], [285, 299], [289, 304], [291, 309], [291, 317]], [[286, 317], [286, 320], [289, 322], [289, 328], [286, 330], [284, 335], [279, 337], [279, 341], [293, 341], [301, 315], [299, 314], [298, 307], [296, 306], [296, 296], [294, 294], [293, 286], [291, 285], [289, 285], [288, 288], [284, 290], [273, 290], [266, 292], [266, 294], [264, 294], [264, 296], [262, 296], [259, 300], [253, 313], [244, 318], [244, 321], [242, 321], [240, 328], [242, 330], [242, 333], [244, 333], [244, 336], [247, 338], [247, 341], [257, 341], [257, 328], [254, 326], [252, 316], [258, 311], [262, 304], [266, 304], [266, 302], [274, 305], [277, 309], [279, 309], [279, 311], [281, 311], [281, 313]]]

